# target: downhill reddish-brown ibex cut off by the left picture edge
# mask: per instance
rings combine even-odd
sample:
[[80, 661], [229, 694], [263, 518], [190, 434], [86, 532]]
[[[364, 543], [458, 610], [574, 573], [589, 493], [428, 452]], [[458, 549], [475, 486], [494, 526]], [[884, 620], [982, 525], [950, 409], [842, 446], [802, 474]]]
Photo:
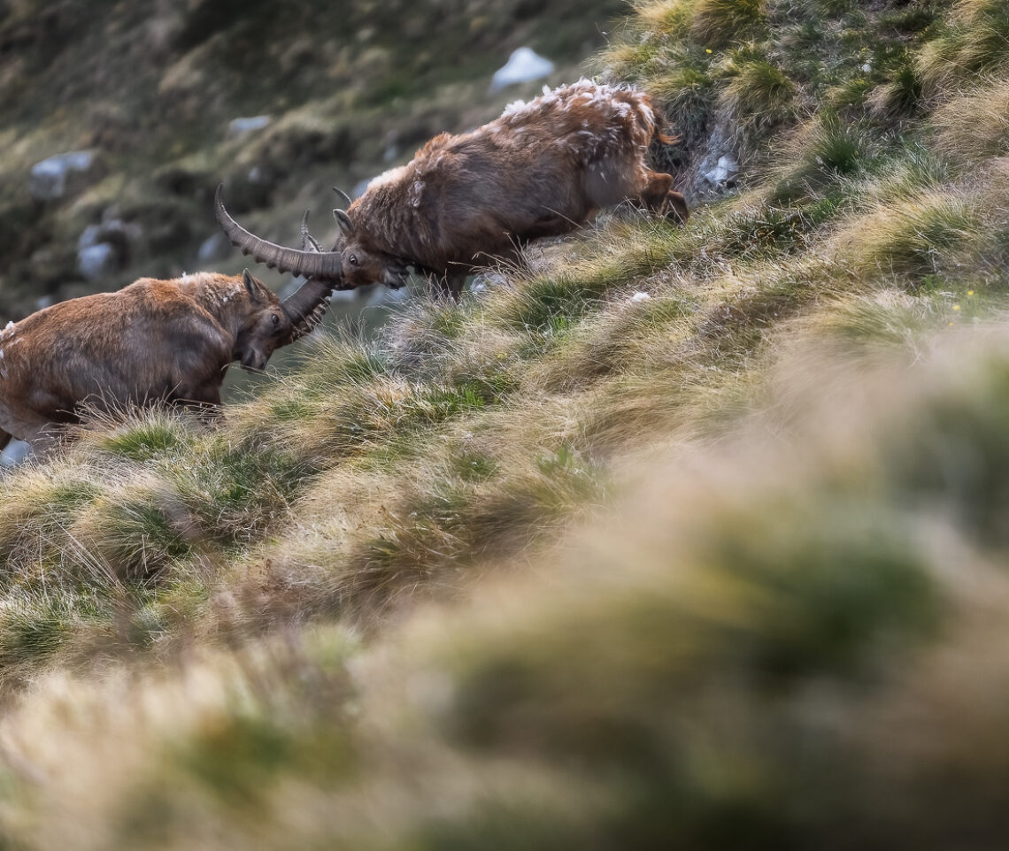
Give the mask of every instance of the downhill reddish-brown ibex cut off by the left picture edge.
[[213, 411], [232, 361], [261, 370], [309, 333], [331, 286], [309, 280], [285, 301], [246, 269], [173, 280], [141, 278], [117, 292], [62, 301], [0, 332], [0, 450], [34, 452], [98, 410], [180, 402]]

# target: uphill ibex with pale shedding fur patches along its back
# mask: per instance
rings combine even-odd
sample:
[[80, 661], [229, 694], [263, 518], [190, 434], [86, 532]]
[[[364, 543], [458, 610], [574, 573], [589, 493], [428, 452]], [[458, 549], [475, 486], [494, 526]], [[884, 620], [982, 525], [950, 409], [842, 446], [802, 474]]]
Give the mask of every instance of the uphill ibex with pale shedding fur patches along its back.
[[583, 80], [512, 104], [476, 130], [436, 136], [333, 211], [341, 236], [330, 251], [253, 236], [228, 215], [220, 188], [216, 215], [235, 246], [281, 271], [351, 288], [403, 285], [414, 266], [458, 297], [475, 267], [518, 260], [527, 241], [572, 231], [604, 207], [631, 201], [685, 221], [672, 175], [646, 164], [656, 137], [672, 141], [646, 94]]

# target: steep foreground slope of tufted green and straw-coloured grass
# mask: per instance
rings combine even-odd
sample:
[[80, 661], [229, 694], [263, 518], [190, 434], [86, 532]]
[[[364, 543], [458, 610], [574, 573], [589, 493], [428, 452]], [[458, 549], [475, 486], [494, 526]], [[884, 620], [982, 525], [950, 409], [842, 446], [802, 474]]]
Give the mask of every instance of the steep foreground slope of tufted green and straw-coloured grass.
[[1001, 847], [1004, 3], [595, 70], [738, 188], [0, 480], [10, 847]]

